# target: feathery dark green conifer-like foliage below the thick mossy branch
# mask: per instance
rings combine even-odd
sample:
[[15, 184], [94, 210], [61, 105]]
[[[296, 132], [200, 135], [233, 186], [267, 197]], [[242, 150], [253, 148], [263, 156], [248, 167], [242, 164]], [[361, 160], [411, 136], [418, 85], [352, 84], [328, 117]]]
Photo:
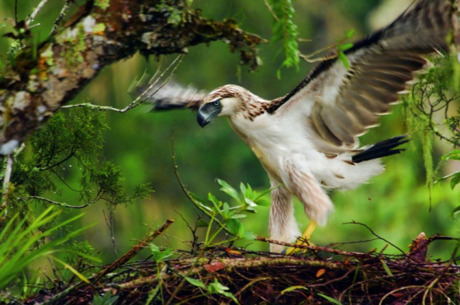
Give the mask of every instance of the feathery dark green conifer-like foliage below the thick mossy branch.
[[[24, 203], [33, 201], [62, 208], [84, 208], [102, 201], [113, 209], [148, 197], [151, 189], [147, 184], [137, 185], [128, 194], [120, 168], [103, 159], [102, 133], [107, 128], [104, 114], [91, 109], [55, 114], [30, 137], [14, 161], [10, 210], [27, 210]], [[64, 179], [69, 176], [77, 176], [78, 185]], [[76, 204], [54, 200], [63, 189], [77, 192]]]

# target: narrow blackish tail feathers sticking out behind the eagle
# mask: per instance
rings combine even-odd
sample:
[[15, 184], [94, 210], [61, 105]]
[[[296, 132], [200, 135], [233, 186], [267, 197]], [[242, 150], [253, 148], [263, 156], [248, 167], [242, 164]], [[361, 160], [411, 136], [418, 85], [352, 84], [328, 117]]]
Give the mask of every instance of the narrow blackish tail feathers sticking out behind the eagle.
[[366, 150], [354, 155], [351, 160], [355, 163], [377, 159], [381, 157], [391, 156], [405, 151], [404, 148], [396, 148], [404, 143], [409, 142], [407, 135], [400, 135], [367, 148]]

